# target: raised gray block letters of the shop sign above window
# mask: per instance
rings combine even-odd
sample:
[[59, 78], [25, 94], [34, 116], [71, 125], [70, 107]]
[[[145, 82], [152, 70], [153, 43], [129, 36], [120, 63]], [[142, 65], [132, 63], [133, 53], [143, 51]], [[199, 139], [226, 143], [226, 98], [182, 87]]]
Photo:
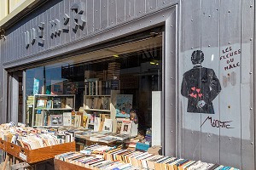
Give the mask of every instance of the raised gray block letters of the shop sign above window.
[[[73, 29], [73, 32], [78, 31], [78, 29], [83, 29], [85, 26], [85, 19], [84, 19], [84, 3], [74, 3], [72, 5], [71, 15], [72, 18], [68, 14], [64, 14], [62, 19], [55, 19], [49, 21], [50, 27], [50, 37], [53, 39], [61, 35], [62, 32], [69, 32], [69, 24]], [[44, 22], [40, 22], [40, 24], [30, 29], [29, 31], [25, 31], [25, 43], [26, 48], [29, 48], [30, 45], [34, 45], [36, 40], [38, 40], [38, 45], [44, 46]]]

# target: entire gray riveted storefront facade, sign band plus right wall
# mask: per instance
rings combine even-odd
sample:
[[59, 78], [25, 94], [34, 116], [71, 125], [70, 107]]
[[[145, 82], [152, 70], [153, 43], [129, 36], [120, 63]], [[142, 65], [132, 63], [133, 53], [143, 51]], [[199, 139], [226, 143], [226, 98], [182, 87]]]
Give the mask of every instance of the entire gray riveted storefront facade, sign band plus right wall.
[[[61, 32], [60, 37], [49, 38], [49, 20], [62, 20], [64, 12], [71, 16], [70, 7], [77, 2], [84, 2], [85, 5], [84, 30], [79, 29], [77, 33], [72, 30], [70, 33]], [[177, 117], [177, 120], [166, 120], [166, 123], [177, 123], [177, 144], [171, 147], [176, 147], [177, 156], [183, 158], [254, 169], [253, 0], [63, 0], [51, 8], [46, 4], [38, 9], [36, 17], [15, 25], [8, 31], [7, 39], [1, 41], [3, 67], [15, 67], [56, 54], [69, 53], [74, 49], [129, 35], [139, 28], [164, 24], [167, 18], [165, 14], [160, 16], [160, 11], [175, 4], [175, 41], [178, 50], [176, 69], [172, 71], [176, 71], [177, 87], [173, 90], [177, 95], [177, 112], [170, 114], [177, 116], [167, 117]], [[144, 20], [144, 25], [138, 24], [137, 19]], [[45, 22], [44, 47], [38, 46], [36, 42], [26, 48], [24, 32], [42, 21]], [[123, 27], [126, 29], [122, 30]], [[130, 33], [127, 31], [129, 29]], [[214, 114], [188, 112], [188, 99], [180, 94], [183, 73], [193, 67], [190, 56], [198, 49], [205, 54], [202, 66], [215, 72], [222, 88], [216, 99], [212, 100]], [[221, 58], [235, 51], [236, 56]], [[236, 67], [224, 69], [233, 64]], [[3, 90], [2, 86], [0, 90]], [[212, 123], [207, 119], [208, 116], [212, 118]], [[216, 122], [225, 122], [225, 125], [232, 128], [216, 127]]]

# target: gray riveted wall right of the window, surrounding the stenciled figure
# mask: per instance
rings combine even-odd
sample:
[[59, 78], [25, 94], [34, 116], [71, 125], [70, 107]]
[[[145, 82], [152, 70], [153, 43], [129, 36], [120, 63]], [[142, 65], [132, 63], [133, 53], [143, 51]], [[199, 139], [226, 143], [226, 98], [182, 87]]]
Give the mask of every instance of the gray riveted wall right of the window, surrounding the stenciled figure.
[[[214, 114], [187, 111], [188, 99], [180, 95], [181, 156], [255, 169], [254, 1], [183, 1], [181, 11], [180, 84], [183, 73], [193, 67], [192, 52], [201, 50], [205, 56], [202, 66], [215, 71], [222, 88], [212, 101]], [[230, 53], [233, 56], [222, 57]]]

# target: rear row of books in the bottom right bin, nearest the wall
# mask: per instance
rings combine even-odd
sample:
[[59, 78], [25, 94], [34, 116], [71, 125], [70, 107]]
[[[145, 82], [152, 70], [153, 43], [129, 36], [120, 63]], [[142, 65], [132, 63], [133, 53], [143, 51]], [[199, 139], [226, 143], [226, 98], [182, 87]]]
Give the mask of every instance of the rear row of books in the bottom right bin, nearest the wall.
[[160, 156], [149, 154], [148, 152], [125, 150], [125, 149], [114, 149], [105, 152], [103, 155], [107, 161], [123, 161], [130, 163], [138, 169], [169, 169], [169, 170], [192, 170], [192, 169], [233, 169], [234, 167], [225, 167], [223, 165], [212, 164], [202, 161], [190, 161], [188, 159], [182, 159], [172, 156]]

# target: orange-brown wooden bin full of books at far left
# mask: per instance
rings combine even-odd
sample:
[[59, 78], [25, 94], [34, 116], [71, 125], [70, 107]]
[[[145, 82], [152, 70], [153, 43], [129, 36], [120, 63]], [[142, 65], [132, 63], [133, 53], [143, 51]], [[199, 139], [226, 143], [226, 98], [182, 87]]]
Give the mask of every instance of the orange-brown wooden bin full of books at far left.
[[33, 164], [75, 150], [73, 133], [44, 128], [0, 125], [0, 149], [10, 156]]

